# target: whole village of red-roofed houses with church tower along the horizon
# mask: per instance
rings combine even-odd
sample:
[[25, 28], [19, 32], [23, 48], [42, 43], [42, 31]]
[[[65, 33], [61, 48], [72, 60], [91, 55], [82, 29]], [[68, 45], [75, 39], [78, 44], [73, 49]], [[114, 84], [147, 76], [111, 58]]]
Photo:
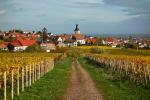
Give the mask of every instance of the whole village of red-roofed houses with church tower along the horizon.
[[46, 52], [56, 50], [57, 47], [74, 47], [74, 46], [110, 46], [112, 48], [133, 48], [149, 49], [150, 39], [115, 37], [92, 37], [80, 32], [79, 26], [76, 25], [74, 32], [71, 34], [52, 34], [48, 33], [46, 28], [38, 32], [24, 32], [12, 29], [8, 32], [0, 32], [0, 50], [1, 51], [24, 51], [32, 45], [39, 45]]

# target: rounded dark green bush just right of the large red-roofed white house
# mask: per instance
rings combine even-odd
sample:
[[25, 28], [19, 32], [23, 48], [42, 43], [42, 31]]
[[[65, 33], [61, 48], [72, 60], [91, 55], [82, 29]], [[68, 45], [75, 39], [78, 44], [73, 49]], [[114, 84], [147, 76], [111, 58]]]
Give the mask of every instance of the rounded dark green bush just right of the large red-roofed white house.
[[25, 52], [44, 52], [44, 51], [45, 50], [37, 44], [31, 45], [31, 46], [27, 47], [25, 50]]

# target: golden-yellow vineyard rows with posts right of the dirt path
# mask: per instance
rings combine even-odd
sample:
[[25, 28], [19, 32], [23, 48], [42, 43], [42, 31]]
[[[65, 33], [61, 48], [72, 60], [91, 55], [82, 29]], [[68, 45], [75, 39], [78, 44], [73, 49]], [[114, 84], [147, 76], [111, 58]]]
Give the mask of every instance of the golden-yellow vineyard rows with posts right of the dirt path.
[[86, 58], [127, 77], [136, 84], [150, 82], [150, 57], [110, 54], [86, 54]]

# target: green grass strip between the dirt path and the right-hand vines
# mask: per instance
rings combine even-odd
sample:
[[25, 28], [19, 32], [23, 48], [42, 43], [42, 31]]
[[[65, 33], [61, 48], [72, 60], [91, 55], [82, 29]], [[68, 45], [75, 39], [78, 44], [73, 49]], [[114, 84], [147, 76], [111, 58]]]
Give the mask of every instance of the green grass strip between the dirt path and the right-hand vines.
[[150, 100], [150, 86], [135, 85], [122, 75], [93, 65], [83, 57], [79, 61], [89, 72], [105, 100]]

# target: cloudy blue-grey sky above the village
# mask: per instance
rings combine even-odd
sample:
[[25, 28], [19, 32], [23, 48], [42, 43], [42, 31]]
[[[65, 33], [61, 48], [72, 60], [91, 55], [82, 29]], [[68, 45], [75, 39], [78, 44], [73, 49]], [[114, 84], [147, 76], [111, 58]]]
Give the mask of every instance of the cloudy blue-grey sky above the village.
[[0, 0], [0, 29], [150, 33], [150, 0]]

